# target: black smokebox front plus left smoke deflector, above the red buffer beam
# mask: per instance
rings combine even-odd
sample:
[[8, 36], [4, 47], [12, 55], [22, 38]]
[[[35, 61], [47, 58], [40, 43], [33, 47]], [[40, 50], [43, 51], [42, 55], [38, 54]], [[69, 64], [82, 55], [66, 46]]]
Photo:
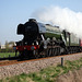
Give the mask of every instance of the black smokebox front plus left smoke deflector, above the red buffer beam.
[[30, 20], [25, 24], [20, 24], [17, 26], [17, 34], [23, 34], [24, 38], [23, 42], [27, 43], [27, 45], [32, 45], [32, 43], [38, 36], [38, 25], [36, 20]]

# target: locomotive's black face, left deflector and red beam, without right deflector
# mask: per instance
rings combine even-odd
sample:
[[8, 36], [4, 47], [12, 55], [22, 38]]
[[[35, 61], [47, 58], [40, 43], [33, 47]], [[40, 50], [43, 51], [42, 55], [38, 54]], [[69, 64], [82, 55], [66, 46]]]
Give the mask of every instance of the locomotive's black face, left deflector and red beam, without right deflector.
[[16, 42], [16, 50], [22, 52], [24, 50], [35, 50], [38, 49], [37, 38], [39, 36], [38, 24], [36, 20], [30, 20], [25, 24], [19, 24], [17, 34], [23, 35], [23, 39]]

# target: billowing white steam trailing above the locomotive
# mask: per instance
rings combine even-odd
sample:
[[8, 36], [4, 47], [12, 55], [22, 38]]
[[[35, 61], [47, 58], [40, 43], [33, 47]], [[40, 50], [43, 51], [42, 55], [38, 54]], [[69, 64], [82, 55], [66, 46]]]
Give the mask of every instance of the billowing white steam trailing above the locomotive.
[[59, 25], [61, 30], [67, 30], [82, 38], [82, 12], [74, 12], [68, 8], [48, 7], [35, 11], [33, 17]]

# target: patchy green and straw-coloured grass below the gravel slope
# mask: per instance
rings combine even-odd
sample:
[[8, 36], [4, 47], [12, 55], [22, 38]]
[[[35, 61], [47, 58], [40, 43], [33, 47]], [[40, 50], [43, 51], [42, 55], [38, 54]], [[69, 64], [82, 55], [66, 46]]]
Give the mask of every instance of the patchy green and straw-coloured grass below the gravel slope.
[[65, 66], [50, 66], [46, 69], [42, 69], [39, 72], [22, 73], [12, 78], [0, 80], [0, 82], [55, 82], [56, 79], [63, 73], [68, 73], [69, 70], [79, 70], [82, 67], [82, 58], [75, 61], [65, 61]]

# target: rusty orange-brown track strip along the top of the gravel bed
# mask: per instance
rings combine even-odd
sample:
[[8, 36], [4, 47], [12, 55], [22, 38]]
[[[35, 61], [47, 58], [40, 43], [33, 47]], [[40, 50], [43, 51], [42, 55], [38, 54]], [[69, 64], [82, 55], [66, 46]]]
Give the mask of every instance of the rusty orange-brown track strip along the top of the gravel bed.
[[[82, 54], [82, 52], [78, 52], [78, 54]], [[22, 62], [44, 60], [44, 59], [49, 59], [49, 58], [67, 57], [67, 56], [72, 56], [72, 55], [78, 55], [78, 54], [61, 55], [61, 56], [54, 56], [54, 57], [46, 57], [46, 58], [38, 58], [38, 59], [30, 59], [30, 60], [1, 60], [0, 61], [0, 67], [15, 65], [15, 63], [22, 63]]]

